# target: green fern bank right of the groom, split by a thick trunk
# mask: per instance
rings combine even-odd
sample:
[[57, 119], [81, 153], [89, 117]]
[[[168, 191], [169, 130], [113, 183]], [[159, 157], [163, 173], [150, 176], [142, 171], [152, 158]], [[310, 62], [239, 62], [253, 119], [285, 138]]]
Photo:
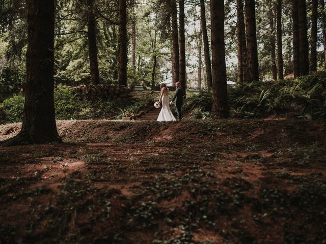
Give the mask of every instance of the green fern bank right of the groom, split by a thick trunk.
[[[295, 118], [326, 118], [326, 74], [296, 79], [254, 81], [228, 87], [231, 117], [255, 118], [290, 115]], [[212, 94], [202, 91], [188, 97], [183, 105], [190, 118], [207, 118]]]

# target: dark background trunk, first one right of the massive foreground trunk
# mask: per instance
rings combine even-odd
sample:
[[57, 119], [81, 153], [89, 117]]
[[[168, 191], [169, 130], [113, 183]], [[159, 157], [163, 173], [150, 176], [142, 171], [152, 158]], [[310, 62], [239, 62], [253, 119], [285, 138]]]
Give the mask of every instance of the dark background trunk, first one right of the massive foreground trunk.
[[98, 60], [97, 60], [97, 45], [96, 45], [96, 20], [94, 15], [94, 2], [87, 0], [88, 5], [88, 49], [90, 56], [91, 83], [97, 85], [100, 83]]

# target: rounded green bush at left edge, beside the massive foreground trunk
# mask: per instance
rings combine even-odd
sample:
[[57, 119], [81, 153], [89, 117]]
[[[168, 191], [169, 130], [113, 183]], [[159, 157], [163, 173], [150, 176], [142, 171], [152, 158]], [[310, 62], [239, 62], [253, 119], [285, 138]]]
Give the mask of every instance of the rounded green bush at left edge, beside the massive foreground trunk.
[[23, 118], [24, 97], [14, 95], [12, 98], [6, 99], [0, 106], [6, 116], [6, 120], [10, 123], [21, 121]]

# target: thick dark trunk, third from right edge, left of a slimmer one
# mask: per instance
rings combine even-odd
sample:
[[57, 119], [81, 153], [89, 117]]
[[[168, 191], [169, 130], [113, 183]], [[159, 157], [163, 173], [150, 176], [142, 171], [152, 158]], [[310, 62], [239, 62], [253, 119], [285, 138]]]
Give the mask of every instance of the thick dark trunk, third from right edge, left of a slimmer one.
[[309, 48], [307, 36], [306, 0], [299, 0], [299, 42], [300, 42], [300, 74], [309, 74]]

